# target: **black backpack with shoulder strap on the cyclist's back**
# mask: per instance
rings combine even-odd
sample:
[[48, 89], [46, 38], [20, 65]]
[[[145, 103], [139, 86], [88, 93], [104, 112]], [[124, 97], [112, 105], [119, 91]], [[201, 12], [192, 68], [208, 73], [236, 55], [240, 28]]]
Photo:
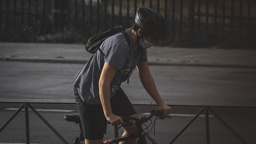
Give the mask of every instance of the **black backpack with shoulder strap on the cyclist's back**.
[[[128, 45], [130, 46], [130, 39], [129, 36], [127, 34], [127, 32], [124, 31], [125, 27], [124, 26], [116, 26], [114, 28], [111, 28], [105, 32], [102, 32], [101, 34], [98, 34], [96, 36], [92, 36], [90, 37], [86, 43], [85, 43], [85, 49], [94, 54], [97, 52], [97, 50], [100, 51], [100, 53], [105, 56], [104, 52], [100, 49], [100, 45], [102, 44], [102, 42], [104, 42], [104, 40], [106, 40], [108, 37], [113, 36], [115, 34], [117, 34], [118, 32], [122, 32], [122, 34], [124, 35], [124, 37], [126, 38], [126, 41], [128, 43]], [[130, 53], [130, 51], [129, 51]]]

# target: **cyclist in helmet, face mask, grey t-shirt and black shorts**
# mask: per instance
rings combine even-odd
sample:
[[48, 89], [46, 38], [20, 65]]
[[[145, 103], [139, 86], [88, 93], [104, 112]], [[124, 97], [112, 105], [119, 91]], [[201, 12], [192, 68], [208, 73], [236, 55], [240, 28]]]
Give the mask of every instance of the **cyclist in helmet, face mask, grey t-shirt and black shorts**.
[[[167, 37], [164, 18], [155, 10], [141, 6], [136, 12], [135, 24], [125, 31], [130, 46], [122, 33], [107, 38], [100, 46], [105, 56], [97, 51], [75, 76], [74, 94], [86, 144], [102, 144], [107, 120], [111, 125], [120, 125], [123, 123], [120, 116], [138, 118], [120, 88], [136, 67], [145, 90], [159, 109], [164, 110], [164, 115], [170, 114], [171, 108], [160, 97], [147, 62], [147, 48]], [[124, 127], [123, 136], [136, 131], [135, 125]]]

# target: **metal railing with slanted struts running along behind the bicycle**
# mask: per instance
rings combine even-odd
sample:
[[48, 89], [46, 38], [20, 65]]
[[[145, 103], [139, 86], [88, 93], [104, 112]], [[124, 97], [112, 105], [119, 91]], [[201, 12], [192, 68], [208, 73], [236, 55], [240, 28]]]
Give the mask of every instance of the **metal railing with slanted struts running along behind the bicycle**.
[[[40, 115], [30, 104], [76, 104], [75, 100], [48, 100], [48, 99], [0, 99], [0, 103], [21, 103], [22, 105], [18, 110], [1, 126], [0, 132], [12, 121], [12, 119], [24, 108], [25, 109], [25, 124], [26, 124], [26, 144], [30, 143], [29, 136], [29, 120], [28, 120], [28, 108], [30, 108], [47, 126], [60, 138], [60, 140], [68, 144], [68, 142]], [[133, 105], [148, 106], [157, 105], [156, 102], [150, 101], [131, 101]], [[206, 140], [207, 144], [210, 144], [210, 128], [209, 128], [209, 112], [211, 112], [234, 136], [240, 140], [243, 144], [247, 142], [231, 127], [229, 126], [211, 107], [223, 107], [223, 108], [256, 108], [256, 104], [237, 104], [237, 103], [211, 103], [211, 102], [165, 102], [169, 106], [197, 106], [202, 107], [202, 109], [188, 122], [182, 130], [170, 141], [172, 144], [189, 126], [202, 114], [205, 112], [205, 122], [206, 122]], [[117, 126], [114, 127], [114, 137], [118, 137]]]

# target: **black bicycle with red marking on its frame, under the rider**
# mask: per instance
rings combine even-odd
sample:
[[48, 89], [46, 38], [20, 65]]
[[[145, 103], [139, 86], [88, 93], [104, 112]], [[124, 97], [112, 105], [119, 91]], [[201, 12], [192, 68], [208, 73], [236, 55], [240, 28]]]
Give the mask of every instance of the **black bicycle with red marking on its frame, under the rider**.
[[[154, 120], [151, 120], [151, 118], [153, 116], [156, 116], [156, 117], [154, 118]], [[103, 144], [114, 144], [116, 142], [122, 142], [125, 140], [134, 139], [134, 138], [138, 138], [136, 144], [147, 144], [145, 135], [149, 134], [153, 128], [155, 131], [156, 119], [164, 119], [164, 118], [171, 118], [171, 117], [163, 116], [163, 110], [152, 110], [150, 112], [150, 116], [148, 116], [148, 117], [143, 116], [142, 118], [122, 116], [122, 120], [125, 124], [122, 124], [121, 126], [119, 126], [118, 129], [121, 128], [122, 126], [132, 126], [132, 124], [136, 124], [136, 126], [138, 128], [138, 133], [106, 140], [103, 142]], [[76, 124], [79, 124], [81, 132], [79, 134], [79, 137], [76, 137], [76, 139], [74, 140], [74, 144], [80, 144], [80, 142], [84, 140], [84, 136], [83, 136], [82, 124], [80, 121], [79, 114], [76, 114], [76, 113], [66, 114], [64, 116], [64, 119], [68, 122], [75, 122]], [[134, 122], [130, 122], [130, 120], [134, 120]], [[150, 124], [146, 125], [145, 123], [148, 121], [150, 121]], [[142, 125], [144, 125], [146, 128], [142, 128]], [[154, 132], [154, 134], [155, 134], [155, 132]], [[153, 141], [154, 141], [154, 139], [153, 139]]]

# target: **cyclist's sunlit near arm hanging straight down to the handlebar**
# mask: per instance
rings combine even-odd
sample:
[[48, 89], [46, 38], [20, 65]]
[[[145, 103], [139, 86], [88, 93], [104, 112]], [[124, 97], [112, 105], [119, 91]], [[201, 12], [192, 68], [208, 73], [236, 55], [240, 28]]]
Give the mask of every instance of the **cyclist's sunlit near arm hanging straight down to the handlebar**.
[[117, 69], [105, 62], [99, 80], [100, 101], [106, 119], [112, 126], [122, 124], [122, 118], [112, 113], [110, 105], [110, 82], [114, 78]]

